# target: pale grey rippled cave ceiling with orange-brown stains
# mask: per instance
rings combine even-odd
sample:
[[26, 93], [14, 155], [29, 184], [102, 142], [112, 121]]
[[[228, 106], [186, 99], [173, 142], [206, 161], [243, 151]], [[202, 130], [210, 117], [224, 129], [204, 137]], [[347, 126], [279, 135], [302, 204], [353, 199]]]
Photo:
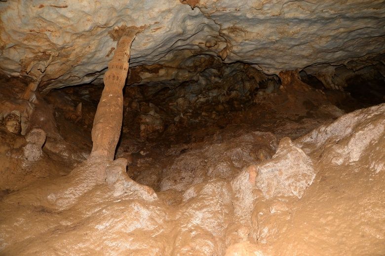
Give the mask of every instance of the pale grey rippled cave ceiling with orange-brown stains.
[[100, 78], [115, 49], [107, 33], [121, 25], [146, 28], [132, 67], [203, 53], [269, 74], [318, 65], [313, 73], [331, 77], [334, 68], [320, 64], [385, 49], [384, 3], [373, 0], [15, 0], [1, 1], [0, 12], [1, 72], [41, 77], [46, 88]]

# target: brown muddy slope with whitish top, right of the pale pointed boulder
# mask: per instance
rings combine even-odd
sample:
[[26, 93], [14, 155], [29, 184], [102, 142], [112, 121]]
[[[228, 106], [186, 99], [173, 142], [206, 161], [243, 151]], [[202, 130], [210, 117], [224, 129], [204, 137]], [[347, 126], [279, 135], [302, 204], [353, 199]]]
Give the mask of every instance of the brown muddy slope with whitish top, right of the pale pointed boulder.
[[384, 104], [356, 110], [294, 141], [320, 171], [300, 200], [255, 205], [252, 236], [263, 255], [384, 254], [384, 114]]

